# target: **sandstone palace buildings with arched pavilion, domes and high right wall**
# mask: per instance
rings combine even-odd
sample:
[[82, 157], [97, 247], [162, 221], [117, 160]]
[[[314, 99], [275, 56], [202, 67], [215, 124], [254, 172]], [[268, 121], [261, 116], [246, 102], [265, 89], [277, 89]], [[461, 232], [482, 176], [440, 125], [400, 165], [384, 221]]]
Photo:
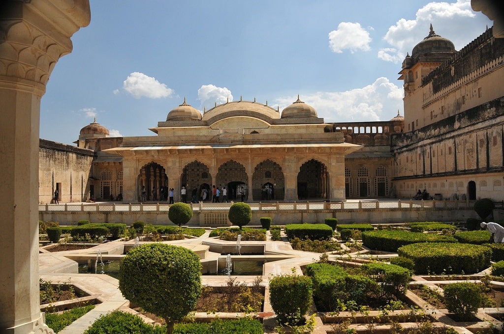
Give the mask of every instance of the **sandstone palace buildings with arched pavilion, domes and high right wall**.
[[[457, 51], [430, 28], [407, 55], [404, 117], [325, 123], [299, 98], [227, 102], [203, 113], [183, 101], [153, 136], [109, 137], [95, 122], [77, 147], [41, 141], [40, 203], [187, 201], [212, 186], [229, 200], [504, 199], [504, 39], [492, 28]], [[53, 148], [50, 148], [53, 146]], [[67, 150], [65, 146], [68, 146]], [[145, 200], [142, 193], [145, 192]]]

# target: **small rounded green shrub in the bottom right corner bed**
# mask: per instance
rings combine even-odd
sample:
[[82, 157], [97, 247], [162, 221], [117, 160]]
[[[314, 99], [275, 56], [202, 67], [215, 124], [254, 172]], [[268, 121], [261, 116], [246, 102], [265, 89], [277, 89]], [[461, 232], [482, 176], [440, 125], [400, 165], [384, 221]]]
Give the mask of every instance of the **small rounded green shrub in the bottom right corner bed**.
[[446, 308], [460, 317], [457, 320], [471, 320], [483, 301], [481, 288], [475, 283], [450, 283], [445, 286], [444, 293]]

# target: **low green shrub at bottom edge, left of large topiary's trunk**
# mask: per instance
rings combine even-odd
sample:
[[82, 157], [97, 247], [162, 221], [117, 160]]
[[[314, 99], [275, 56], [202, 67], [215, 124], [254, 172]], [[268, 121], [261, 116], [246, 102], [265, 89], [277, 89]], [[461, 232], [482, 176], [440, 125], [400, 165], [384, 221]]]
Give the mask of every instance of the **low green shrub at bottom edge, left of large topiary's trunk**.
[[117, 333], [166, 334], [166, 328], [147, 324], [138, 315], [113, 311], [106, 315], [100, 315], [83, 334]]

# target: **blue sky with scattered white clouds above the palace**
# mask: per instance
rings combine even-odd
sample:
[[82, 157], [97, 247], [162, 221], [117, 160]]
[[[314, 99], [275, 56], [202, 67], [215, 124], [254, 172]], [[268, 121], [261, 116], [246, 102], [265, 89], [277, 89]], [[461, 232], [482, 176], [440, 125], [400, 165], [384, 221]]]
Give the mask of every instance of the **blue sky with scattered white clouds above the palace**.
[[470, 0], [90, 0], [91, 23], [56, 64], [40, 137], [72, 144], [96, 121], [111, 136], [155, 135], [183, 103], [297, 99], [326, 122], [403, 115], [406, 53], [429, 33], [457, 50], [492, 22]]

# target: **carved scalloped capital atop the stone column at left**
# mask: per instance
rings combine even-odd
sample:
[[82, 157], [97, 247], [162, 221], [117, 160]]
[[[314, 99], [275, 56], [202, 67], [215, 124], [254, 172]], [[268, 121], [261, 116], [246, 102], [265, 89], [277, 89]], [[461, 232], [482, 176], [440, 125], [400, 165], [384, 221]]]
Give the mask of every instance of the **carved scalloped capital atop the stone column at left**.
[[89, 24], [89, 0], [3, 0], [0, 3], [0, 88], [45, 93], [70, 37]]

